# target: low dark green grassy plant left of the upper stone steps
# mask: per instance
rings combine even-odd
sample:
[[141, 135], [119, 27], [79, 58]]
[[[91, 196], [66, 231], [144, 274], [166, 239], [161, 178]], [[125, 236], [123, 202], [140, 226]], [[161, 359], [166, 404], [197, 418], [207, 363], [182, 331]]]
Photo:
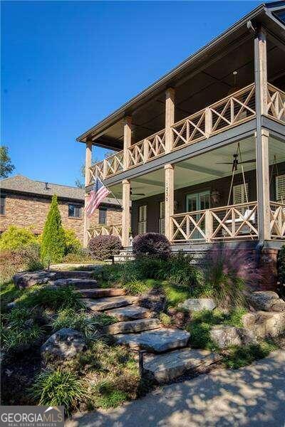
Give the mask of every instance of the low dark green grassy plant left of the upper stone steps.
[[60, 310], [63, 308], [73, 308], [80, 310], [84, 307], [81, 295], [71, 286], [64, 288], [31, 288], [30, 292], [25, 292], [18, 300], [22, 307], [45, 307], [51, 310]]

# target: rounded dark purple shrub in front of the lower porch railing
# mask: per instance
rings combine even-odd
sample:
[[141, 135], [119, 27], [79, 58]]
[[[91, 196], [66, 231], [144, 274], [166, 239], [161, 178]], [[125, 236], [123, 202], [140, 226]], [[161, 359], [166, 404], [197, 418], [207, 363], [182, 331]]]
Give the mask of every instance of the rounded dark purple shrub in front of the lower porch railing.
[[171, 255], [170, 242], [163, 234], [139, 234], [133, 239], [133, 253], [137, 257], [149, 255], [166, 260]]

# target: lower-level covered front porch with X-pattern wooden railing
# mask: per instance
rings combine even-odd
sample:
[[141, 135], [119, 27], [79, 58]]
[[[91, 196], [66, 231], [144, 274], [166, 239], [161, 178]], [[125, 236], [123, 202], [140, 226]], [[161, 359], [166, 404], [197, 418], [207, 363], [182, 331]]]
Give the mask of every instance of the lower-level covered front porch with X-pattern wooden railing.
[[110, 187], [123, 202], [130, 198], [130, 226], [127, 229], [123, 220], [121, 226], [93, 228], [90, 236], [115, 234], [124, 247], [148, 231], [163, 233], [182, 248], [192, 243], [284, 240], [285, 146], [273, 134], [265, 136], [267, 195], [264, 185], [258, 191], [261, 172], [256, 139], [250, 135]]

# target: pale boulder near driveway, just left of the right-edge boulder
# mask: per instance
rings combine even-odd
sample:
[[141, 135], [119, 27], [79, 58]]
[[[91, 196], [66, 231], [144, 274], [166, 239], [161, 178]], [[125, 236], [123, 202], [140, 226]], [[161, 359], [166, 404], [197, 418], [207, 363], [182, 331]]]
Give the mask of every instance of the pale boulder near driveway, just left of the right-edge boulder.
[[254, 333], [243, 327], [234, 327], [228, 325], [217, 325], [210, 331], [211, 339], [220, 349], [231, 345], [246, 345], [256, 342]]

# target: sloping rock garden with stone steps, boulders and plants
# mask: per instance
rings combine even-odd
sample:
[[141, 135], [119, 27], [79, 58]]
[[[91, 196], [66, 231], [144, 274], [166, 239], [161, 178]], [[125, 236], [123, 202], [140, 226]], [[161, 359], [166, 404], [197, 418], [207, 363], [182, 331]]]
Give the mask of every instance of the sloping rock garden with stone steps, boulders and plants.
[[285, 301], [260, 290], [244, 248], [213, 248], [199, 267], [152, 233], [133, 251], [125, 263], [26, 271], [2, 284], [3, 404], [109, 408], [284, 346]]

